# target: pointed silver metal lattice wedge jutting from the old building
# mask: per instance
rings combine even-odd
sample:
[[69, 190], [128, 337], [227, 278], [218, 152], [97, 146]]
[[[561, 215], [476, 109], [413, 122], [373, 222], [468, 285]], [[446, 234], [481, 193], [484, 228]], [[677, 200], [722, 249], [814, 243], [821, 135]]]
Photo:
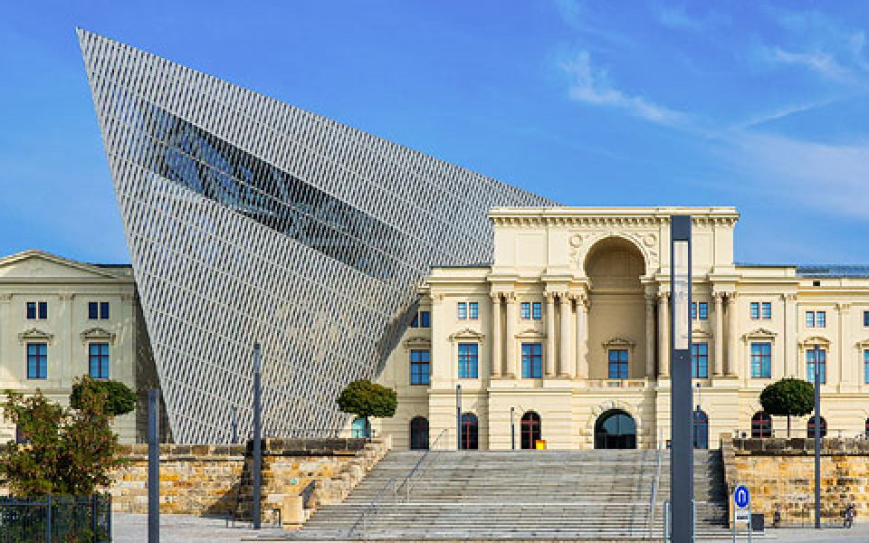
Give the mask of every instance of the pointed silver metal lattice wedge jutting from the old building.
[[79, 30], [130, 259], [179, 443], [336, 428], [432, 264], [487, 262], [493, 205], [555, 205]]

